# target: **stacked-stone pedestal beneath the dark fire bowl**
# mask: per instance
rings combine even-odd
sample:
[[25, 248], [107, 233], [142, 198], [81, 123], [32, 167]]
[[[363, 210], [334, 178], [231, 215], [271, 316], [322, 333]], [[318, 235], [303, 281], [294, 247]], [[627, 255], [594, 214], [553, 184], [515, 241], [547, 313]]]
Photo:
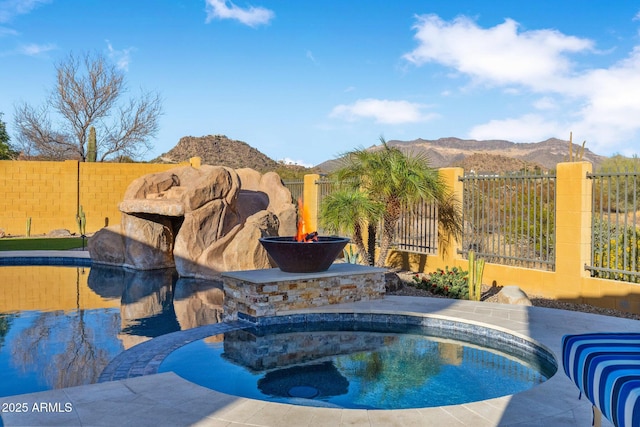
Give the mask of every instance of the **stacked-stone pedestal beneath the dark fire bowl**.
[[279, 268], [222, 274], [224, 316], [255, 319], [292, 310], [382, 298], [385, 269], [335, 263], [319, 273]]

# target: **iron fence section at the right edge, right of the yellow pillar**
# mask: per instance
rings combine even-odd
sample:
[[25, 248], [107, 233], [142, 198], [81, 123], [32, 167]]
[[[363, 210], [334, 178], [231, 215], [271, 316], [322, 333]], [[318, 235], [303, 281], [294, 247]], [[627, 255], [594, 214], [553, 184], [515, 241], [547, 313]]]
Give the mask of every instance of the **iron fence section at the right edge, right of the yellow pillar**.
[[640, 283], [640, 172], [587, 174], [593, 181], [592, 277]]

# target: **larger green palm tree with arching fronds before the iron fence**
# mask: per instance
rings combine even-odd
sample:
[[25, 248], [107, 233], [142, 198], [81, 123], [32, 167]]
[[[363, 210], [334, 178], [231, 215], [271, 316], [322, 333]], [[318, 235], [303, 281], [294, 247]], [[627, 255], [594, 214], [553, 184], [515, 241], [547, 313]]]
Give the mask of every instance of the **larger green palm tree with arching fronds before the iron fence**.
[[[382, 148], [377, 150], [358, 149], [347, 153], [342, 157], [341, 165], [332, 174], [345, 188], [351, 192], [357, 192], [369, 200], [372, 205], [381, 206], [381, 230], [380, 252], [375, 265], [383, 267], [391, 244], [395, 238], [396, 226], [400, 220], [403, 209], [410, 208], [422, 200], [433, 201], [438, 206], [438, 219], [441, 227], [439, 230], [448, 235], [458, 236], [461, 233], [462, 220], [459, 204], [455, 202], [452, 193], [446, 183], [440, 178], [438, 170], [429, 166], [426, 155], [420, 153], [405, 153], [396, 147], [390, 147], [384, 138], [380, 138]], [[355, 200], [355, 199], [354, 199]], [[343, 199], [344, 204], [339, 212], [334, 212], [324, 223], [337, 220], [339, 215], [342, 222], [355, 221], [355, 224], [376, 221], [380, 217], [373, 216], [348, 216], [355, 215], [357, 209], [347, 210], [344, 205], [348, 198]], [[329, 212], [337, 209], [326, 206], [321, 212], [329, 215]], [[333, 220], [331, 219], [333, 217]], [[344, 226], [344, 224], [342, 225]], [[444, 238], [439, 234], [440, 238]], [[358, 241], [354, 235], [354, 243]], [[371, 244], [371, 239], [369, 239]], [[360, 250], [360, 246], [358, 246]], [[364, 245], [362, 245], [364, 247]], [[372, 251], [369, 250], [369, 254]], [[367, 252], [364, 252], [367, 253]]]

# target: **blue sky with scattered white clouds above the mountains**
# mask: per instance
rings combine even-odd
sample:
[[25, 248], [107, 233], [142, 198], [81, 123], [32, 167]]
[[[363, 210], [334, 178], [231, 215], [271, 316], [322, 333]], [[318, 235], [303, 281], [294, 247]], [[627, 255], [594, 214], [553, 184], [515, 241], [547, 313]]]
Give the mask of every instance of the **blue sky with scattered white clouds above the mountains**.
[[101, 52], [164, 102], [150, 159], [224, 134], [319, 164], [379, 137], [640, 153], [640, 3], [624, 0], [0, 0], [0, 112]]

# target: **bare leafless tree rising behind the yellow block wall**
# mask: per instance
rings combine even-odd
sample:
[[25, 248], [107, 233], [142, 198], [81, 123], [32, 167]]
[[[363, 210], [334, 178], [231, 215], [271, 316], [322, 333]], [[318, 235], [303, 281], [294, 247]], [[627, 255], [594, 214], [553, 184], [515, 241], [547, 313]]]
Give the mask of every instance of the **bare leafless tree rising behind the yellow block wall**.
[[151, 148], [149, 139], [162, 114], [159, 94], [143, 92], [124, 100], [124, 73], [100, 54], [70, 54], [55, 70], [56, 86], [43, 106], [16, 106], [15, 126], [25, 154], [85, 161], [91, 126], [99, 161], [137, 158]]

